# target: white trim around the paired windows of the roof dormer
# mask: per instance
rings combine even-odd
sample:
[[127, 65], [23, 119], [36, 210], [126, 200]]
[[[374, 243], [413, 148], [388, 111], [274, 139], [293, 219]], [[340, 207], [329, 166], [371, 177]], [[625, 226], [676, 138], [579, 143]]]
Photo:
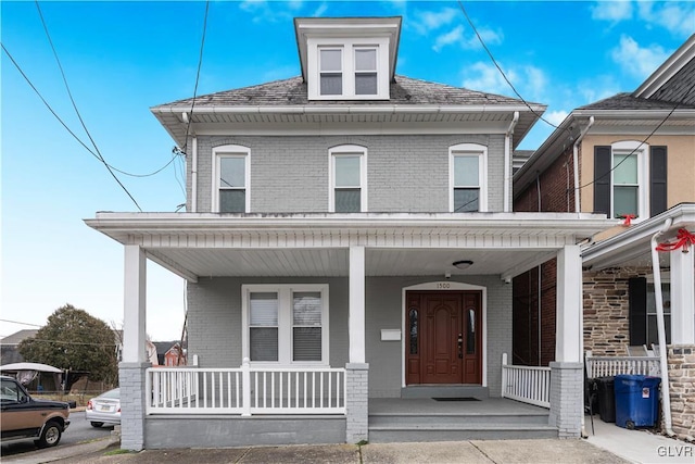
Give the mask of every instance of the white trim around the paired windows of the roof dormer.
[[[342, 48], [342, 95], [320, 95], [319, 49]], [[355, 93], [355, 49], [377, 50], [377, 93]], [[386, 37], [309, 38], [307, 40], [307, 90], [309, 100], [388, 100], [389, 99], [389, 39]]]

